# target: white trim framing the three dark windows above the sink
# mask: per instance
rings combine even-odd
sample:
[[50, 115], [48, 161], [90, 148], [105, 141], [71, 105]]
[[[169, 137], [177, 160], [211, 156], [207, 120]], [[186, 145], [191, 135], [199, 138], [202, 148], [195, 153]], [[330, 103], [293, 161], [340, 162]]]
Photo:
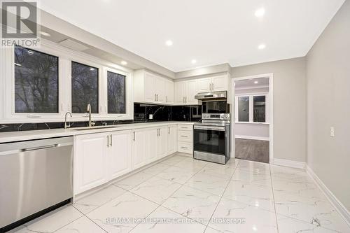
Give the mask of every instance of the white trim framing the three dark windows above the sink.
[[[99, 113], [92, 114], [92, 120], [132, 120], [134, 108], [132, 101], [132, 70], [106, 62], [97, 57], [64, 48], [57, 43], [42, 40], [41, 47], [35, 48], [38, 52], [59, 57], [59, 92], [58, 113], [15, 113], [15, 56], [14, 48], [0, 48], [2, 94], [0, 95], [0, 123], [26, 122], [62, 122], [64, 114], [71, 112], [71, 62], [79, 62], [99, 69]], [[107, 89], [106, 71], [123, 74], [126, 77], [126, 113], [108, 114], [106, 111]], [[86, 121], [85, 114], [74, 113], [71, 121]]]

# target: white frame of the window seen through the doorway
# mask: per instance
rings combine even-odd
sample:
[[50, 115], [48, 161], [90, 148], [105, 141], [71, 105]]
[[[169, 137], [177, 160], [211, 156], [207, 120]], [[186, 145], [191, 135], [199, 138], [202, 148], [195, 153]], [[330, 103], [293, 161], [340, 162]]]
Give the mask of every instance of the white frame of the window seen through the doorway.
[[[254, 122], [254, 97], [265, 96], [265, 122]], [[238, 97], [249, 97], [249, 121], [239, 121], [238, 118]], [[260, 92], [253, 94], [236, 94], [235, 96], [235, 123], [239, 124], [269, 124], [269, 93], [268, 92]]]

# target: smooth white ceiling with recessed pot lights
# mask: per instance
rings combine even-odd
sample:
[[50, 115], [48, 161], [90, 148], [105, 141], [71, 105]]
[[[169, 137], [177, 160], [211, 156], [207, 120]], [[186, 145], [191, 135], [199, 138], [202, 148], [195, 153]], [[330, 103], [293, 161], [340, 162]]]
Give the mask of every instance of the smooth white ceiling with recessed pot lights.
[[[307, 54], [344, 0], [59, 0], [41, 8], [172, 71]], [[255, 10], [265, 8], [262, 18]], [[171, 47], [165, 41], [172, 40]], [[258, 50], [264, 43], [266, 48]], [[197, 60], [192, 64], [193, 59]]]

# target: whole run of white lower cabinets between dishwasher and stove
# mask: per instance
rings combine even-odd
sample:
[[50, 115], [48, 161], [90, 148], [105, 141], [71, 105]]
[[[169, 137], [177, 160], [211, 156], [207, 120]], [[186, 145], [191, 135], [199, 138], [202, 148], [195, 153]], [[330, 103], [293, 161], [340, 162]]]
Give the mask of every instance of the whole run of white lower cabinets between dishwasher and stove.
[[74, 195], [176, 151], [193, 153], [192, 129], [176, 124], [75, 136]]

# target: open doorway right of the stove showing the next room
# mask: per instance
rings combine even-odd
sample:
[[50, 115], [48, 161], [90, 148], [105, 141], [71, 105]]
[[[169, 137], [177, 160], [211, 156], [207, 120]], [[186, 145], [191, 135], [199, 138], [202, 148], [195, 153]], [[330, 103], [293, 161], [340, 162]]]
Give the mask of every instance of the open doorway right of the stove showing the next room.
[[232, 82], [235, 158], [273, 161], [273, 75], [234, 78]]

